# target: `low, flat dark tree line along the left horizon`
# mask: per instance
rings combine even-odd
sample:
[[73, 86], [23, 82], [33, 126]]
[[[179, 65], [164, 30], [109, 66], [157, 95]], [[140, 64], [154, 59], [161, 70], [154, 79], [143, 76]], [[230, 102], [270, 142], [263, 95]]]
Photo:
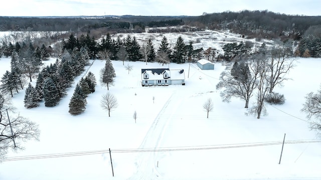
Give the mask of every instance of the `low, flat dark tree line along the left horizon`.
[[[0, 17], [0, 31], [73, 31], [88, 32], [93, 29], [107, 28], [109, 31], [126, 33], [135, 29], [143, 32], [145, 27], [163, 27], [183, 25], [182, 18], [177, 17], [136, 17], [118, 18], [38, 18], [38, 17]], [[140, 31], [138, 31], [140, 30]]]

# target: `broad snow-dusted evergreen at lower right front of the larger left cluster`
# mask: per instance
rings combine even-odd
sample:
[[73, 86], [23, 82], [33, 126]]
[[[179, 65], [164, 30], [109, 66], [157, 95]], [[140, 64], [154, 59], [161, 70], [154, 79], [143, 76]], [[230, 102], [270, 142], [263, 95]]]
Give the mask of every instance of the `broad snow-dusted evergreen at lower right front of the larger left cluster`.
[[51, 78], [44, 81], [43, 95], [46, 107], [56, 106], [60, 100], [59, 91]]

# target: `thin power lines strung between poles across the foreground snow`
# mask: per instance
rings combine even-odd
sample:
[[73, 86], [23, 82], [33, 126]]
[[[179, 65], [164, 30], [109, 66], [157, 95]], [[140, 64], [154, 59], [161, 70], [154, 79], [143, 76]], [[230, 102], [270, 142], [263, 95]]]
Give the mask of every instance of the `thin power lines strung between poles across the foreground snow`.
[[[321, 139], [309, 140], [288, 140], [284, 144], [301, 144], [301, 143], [319, 143]], [[113, 153], [136, 153], [136, 152], [164, 152], [164, 151], [190, 151], [190, 150], [213, 150], [213, 149], [229, 149], [241, 147], [259, 147], [282, 144], [282, 141], [270, 142], [255, 142], [255, 143], [239, 143], [239, 144], [218, 144], [218, 145], [202, 145], [202, 146], [177, 146], [177, 147], [159, 147], [159, 148], [136, 148], [136, 149], [113, 149]], [[40, 154], [40, 155], [26, 155], [2, 158], [0, 161], [16, 161], [16, 160], [31, 160], [31, 159], [45, 159], [45, 158], [58, 158], [58, 157], [72, 157], [109, 153], [109, 149], [93, 150], [93, 151], [80, 151], [80, 152], [67, 152], [67, 153], [54, 153], [54, 154]]]

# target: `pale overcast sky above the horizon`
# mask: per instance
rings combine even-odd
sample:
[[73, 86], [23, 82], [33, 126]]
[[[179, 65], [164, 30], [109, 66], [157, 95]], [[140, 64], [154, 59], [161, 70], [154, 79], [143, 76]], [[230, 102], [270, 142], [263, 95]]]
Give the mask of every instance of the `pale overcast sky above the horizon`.
[[7, 0], [0, 16], [200, 16], [268, 10], [287, 15], [321, 15], [321, 0]]

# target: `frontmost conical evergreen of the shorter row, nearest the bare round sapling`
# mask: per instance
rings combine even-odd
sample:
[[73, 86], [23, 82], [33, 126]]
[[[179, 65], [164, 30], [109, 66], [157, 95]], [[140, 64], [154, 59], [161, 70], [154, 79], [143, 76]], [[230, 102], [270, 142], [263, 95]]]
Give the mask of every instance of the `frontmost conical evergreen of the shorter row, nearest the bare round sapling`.
[[82, 88], [79, 84], [76, 85], [73, 96], [69, 102], [69, 113], [73, 115], [78, 115], [82, 113], [86, 108], [87, 101]]

